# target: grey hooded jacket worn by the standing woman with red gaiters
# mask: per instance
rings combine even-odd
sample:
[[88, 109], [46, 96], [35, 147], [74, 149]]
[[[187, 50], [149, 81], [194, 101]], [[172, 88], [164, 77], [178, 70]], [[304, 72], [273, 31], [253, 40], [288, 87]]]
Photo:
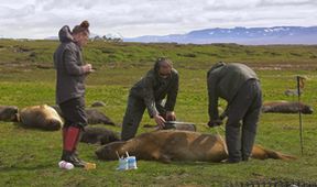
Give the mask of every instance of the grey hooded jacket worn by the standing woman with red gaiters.
[[81, 48], [74, 42], [69, 28], [59, 32], [59, 46], [54, 53], [56, 68], [56, 103], [85, 96], [85, 72]]

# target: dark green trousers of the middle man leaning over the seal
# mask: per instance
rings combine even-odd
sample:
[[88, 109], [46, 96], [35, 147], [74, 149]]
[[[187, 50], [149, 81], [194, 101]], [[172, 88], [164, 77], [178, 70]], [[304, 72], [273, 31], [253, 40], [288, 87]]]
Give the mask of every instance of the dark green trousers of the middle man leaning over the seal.
[[[161, 116], [166, 113], [162, 102], [155, 103], [156, 110]], [[127, 141], [135, 136], [139, 124], [145, 111], [145, 103], [142, 98], [136, 98], [129, 95], [128, 106], [122, 122], [121, 140]]]

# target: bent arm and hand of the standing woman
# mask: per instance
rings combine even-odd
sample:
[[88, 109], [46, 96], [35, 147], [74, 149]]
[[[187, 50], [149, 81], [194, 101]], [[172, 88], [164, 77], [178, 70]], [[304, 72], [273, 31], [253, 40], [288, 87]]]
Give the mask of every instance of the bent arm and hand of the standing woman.
[[64, 52], [64, 65], [67, 74], [69, 75], [79, 76], [91, 72], [90, 64], [86, 64], [84, 66], [77, 64], [76, 53], [70, 50], [65, 50]]

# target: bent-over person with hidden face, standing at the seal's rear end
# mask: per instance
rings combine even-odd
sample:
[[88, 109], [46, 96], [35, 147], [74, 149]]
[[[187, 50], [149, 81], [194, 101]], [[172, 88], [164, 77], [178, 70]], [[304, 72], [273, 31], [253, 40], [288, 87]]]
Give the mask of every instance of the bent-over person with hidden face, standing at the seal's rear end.
[[[217, 63], [207, 74], [209, 127], [220, 125], [227, 116], [226, 143], [229, 163], [248, 161], [255, 140], [262, 105], [256, 74], [247, 65]], [[219, 117], [218, 98], [227, 100], [225, 114]], [[240, 127], [242, 122], [242, 134]]]

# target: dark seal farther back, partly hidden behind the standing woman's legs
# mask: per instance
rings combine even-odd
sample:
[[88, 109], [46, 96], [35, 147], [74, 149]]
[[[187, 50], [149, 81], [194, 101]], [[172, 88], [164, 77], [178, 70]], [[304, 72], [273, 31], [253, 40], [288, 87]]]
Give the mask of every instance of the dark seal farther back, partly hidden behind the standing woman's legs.
[[[62, 110], [58, 106], [52, 106], [56, 110], [56, 112], [64, 118]], [[101, 111], [97, 109], [86, 109], [88, 124], [109, 124], [109, 125], [116, 125], [116, 123], [108, 118], [106, 114], [103, 114]]]

